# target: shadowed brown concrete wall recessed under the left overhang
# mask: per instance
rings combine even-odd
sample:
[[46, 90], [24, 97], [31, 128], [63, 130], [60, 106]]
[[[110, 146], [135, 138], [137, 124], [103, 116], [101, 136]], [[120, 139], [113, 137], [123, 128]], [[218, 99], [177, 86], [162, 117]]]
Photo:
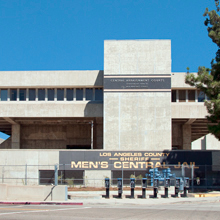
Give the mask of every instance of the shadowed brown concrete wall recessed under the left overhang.
[[[81, 124], [21, 124], [20, 135], [17, 136], [21, 149], [66, 149], [68, 145], [91, 146], [91, 133], [91, 124], [82, 121]], [[16, 148], [11, 138], [0, 145], [0, 149], [8, 148]], [[103, 148], [102, 118], [94, 119], [93, 148]]]

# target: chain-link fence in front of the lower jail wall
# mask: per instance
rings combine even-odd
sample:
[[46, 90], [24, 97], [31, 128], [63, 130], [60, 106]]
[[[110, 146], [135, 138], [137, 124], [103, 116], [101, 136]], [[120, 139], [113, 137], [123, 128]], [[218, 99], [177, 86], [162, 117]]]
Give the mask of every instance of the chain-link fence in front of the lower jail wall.
[[136, 179], [136, 186], [147, 178], [149, 187], [159, 179], [162, 186], [166, 178], [171, 185], [176, 177], [188, 177], [190, 189], [220, 189], [220, 166], [210, 165], [163, 165], [148, 169], [129, 169], [109, 166], [108, 170], [71, 170], [68, 164], [56, 165], [0, 165], [0, 183], [16, 185], [68, 185], [71, 187], [104, 187], [104, 179], [110, 178], [111, 186], [117, 187], [117, 179], [122, 178], [123, 186], [130, 185], [130, 178]]

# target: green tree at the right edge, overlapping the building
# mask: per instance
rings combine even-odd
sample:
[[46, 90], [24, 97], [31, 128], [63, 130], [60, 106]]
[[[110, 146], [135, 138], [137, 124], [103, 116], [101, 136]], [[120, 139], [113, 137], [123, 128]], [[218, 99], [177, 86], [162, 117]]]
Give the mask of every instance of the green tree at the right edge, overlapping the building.
[[[220, 11], [219, 0], [215, 0], [216, 10], [209, 11], [206, 8], [204, 24], [207, 26], [208, 36], [217, 45], [216, 56], [211, 61], [211, 68], [200, 66], [198, 75], [187, 74], [185, 82], [197, 89], [203, 91], [209, 100], [205, 101], [205, 106], [209, 115], [208, 121], [212, 124], [208, 125], [210, 133], [220, 140]], [[189, 69], [187, 68], [187, 72]]]

